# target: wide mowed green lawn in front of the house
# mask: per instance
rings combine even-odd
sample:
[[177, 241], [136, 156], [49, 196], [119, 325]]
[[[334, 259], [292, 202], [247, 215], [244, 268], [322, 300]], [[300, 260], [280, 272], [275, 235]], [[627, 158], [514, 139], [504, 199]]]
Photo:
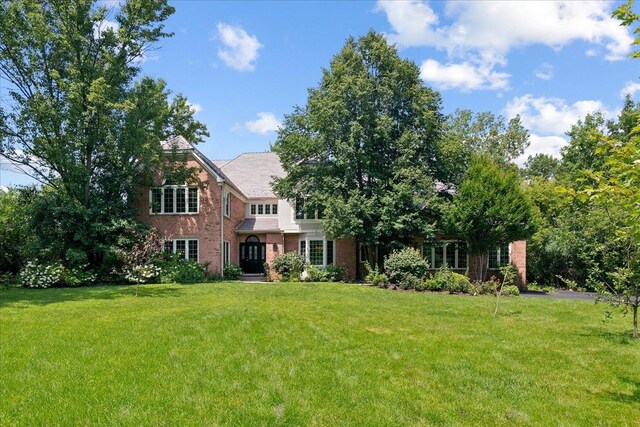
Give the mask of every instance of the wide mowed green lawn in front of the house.
[[0, 425], [640, 425], [588, 301], [343, 284], [0, 292]]

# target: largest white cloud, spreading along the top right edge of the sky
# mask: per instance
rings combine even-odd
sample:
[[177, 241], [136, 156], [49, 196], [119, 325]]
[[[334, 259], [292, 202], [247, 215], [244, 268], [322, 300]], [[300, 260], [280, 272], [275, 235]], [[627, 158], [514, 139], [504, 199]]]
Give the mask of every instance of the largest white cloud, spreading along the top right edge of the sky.
[[[377, 10], [385, 13], [391, 25], [388, 39], [399, 47], [430, 46], [446, 51], [449, 64], [434, 68], [431, 62], [432, 72], [455, 72], [462, 83], [445, 80], [440, 84], [465, 91], [508, 86], [510, 76], [495, 68], [506, 66], [514, 48], [541, 44], [559, 50], [574, 41], [585, 41], [604, 48], [605, 58], [615, 61], [626, 57], [633, 40], [628, 28], [611, 19], [610, 2], [449, 1], [445, 6], [448, 25], [440, 24], [440, 17], [422, 0], [379, 0]], [[596, 51], [587, 51], [591, 53]], [[552, 76], [544, 70], [540, 74]]]

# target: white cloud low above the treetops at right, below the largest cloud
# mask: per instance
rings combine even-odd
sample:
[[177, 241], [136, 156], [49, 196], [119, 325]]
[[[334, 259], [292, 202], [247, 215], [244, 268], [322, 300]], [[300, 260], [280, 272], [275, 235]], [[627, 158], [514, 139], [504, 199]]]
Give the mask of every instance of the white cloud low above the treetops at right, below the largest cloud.
[[563, 135], [579, 119], [595, 111], [613, 118], [616, 111], [609, 110], [601, 101], [583, 100], [567, 104], [558, 98], [535, 98], [531, 94], [515, 97], [507, 103], [507, 118], [520, 115], [524, 127], [542, 135]]

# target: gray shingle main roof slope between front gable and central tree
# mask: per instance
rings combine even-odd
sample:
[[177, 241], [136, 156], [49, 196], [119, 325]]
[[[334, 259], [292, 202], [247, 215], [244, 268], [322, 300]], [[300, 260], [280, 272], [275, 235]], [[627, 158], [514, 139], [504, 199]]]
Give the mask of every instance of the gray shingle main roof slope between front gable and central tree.
[[285, 176], [280, 158], [272, 152], [240, 154], [220, 169], [248, 198], [275, 198], [271, 181]]

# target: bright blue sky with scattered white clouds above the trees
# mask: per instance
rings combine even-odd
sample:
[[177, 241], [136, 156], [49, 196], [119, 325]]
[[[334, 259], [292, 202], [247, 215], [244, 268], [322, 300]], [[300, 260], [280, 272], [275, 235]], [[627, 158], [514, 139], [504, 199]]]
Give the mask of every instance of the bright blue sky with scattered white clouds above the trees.
[[[640, 61], [626, 58], [631, 33], [609, 18], [619, 4], [174, 1], [175, 35], [142, 66], [193, 103], [211, 134], [201, 151], [228, 159], [268, 150], [346, 38], [374, 29], [421, 67], [445, 113], [520, 114], [527, 154], [557, 155], [578, 118], [615, 116], [625, 91], [640, 99]], [[0, 170], [0, 185], [27, 182]]]

